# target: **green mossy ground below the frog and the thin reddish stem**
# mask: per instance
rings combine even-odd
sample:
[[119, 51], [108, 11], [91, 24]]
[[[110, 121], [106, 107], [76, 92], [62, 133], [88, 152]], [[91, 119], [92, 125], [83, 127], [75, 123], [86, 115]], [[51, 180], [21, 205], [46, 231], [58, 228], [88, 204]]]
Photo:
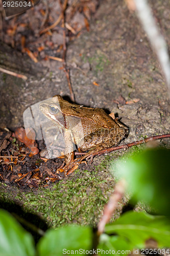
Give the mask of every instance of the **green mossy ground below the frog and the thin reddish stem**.
[[[140, 146], [141, 147], [141, 146]], [[138, 148], [136, 146], [135, 148]], [[104, 205], [114, 190], [114, 178], [109, 169], [114, 160], [132, 154], [134, 148], [108, 154], [103, 160], [95, 158], [99, 165], [89, 165], [87, 169], [76, 170], [58, 183], [38, 190], [21, 190], [17, 186], [0, 186], [0, 199], [5, 204], [15, 204], [25, 213], [38, 216], [48, 227], [58, 227], [68, 223], [96, 226], [102, 216]], [[103, 157], [101, 157], [103, 158]], [[123, 204], [120, 203], [114, 218], [119, 216]], [[20, 212], [18, 210], [18, 212]]]

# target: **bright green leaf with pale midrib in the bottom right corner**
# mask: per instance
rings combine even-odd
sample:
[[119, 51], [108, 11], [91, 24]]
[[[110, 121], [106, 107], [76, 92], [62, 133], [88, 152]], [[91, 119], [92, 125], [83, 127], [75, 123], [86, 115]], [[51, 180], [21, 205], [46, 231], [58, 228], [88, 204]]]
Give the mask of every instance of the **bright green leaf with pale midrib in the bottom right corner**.
[[121, 248], [118, 246], [122, 241], [124, 241], [122, 248], [126, 250], [144, 248], [145, 241], [151, 238], [157, 241], [158, 248], [170, 246], [170, 221], [163, 216], [129, 211], [114, 223], [106, 225], [105, 231], [108, 234], [118, 235], [115, 241], [109, 240], [115, 249]]

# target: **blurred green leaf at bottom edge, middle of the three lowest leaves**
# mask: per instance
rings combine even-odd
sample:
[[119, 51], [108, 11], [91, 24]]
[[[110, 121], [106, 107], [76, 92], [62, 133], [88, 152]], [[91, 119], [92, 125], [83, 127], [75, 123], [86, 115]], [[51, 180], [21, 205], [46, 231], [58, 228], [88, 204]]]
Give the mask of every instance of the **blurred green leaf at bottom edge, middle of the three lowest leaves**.
[[67, 255], [67, 251], [71, 254], [71, 250], [89, 250], [91, 234], [90, 227], [81, 226], [65, 226], [48, 230], [37, 245], [39, 256], [63, 256]]

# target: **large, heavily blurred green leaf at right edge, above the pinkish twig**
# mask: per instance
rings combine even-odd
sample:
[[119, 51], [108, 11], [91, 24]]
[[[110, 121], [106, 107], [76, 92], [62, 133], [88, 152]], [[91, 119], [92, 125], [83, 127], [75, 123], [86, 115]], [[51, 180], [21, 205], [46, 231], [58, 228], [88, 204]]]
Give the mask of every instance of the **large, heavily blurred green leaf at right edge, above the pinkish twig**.
[[170, 212], [170, 150], [150, 148], [116, 164], [116, 173], [128, 182], [134, 202], [144, 201], [161, 215]]

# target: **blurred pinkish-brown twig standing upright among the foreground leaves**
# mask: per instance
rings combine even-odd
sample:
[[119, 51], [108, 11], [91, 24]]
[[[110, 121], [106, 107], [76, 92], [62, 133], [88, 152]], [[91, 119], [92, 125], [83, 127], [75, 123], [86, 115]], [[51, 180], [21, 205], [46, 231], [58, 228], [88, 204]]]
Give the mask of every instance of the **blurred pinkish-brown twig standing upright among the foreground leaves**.
[[113, 212], [115, 211], [118, 202], [123, 198], [125, 194], [126, 180], [120, 180], [114, 187], [114, 192], [109, 198], [109, 202], [106, 204], [102, 219], [98, 225], [98, 236], [104, 232], [104, 228], [107, 222], [111, 219]]

